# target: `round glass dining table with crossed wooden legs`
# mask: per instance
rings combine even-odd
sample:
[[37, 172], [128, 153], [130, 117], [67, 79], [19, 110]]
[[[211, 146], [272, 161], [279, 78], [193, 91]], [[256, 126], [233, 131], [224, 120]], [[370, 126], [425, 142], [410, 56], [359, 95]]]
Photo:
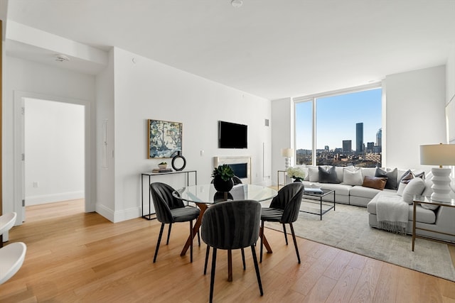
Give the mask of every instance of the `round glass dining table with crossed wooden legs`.
[[[213, 184], [199, 184], [188, 187], [183, 187], [174, 191], [173, 196], [182, 199], [186, 202], [191, 202], [196, 204], [200, 209], [200, 214], [196, 223], [193, 225], [193, 237], [199, 231], [200, 224], [202, 223], [202, 217], [205, 212], [205, 209], [208, 208], [211, 204], [215, 204], [223, 201], [233, 201], [233, 200], [256, 200], [258, 202], [267, 201], [273, 199], [278, 192], [275, 189], [270, 187], [264, 187], [261, 185], [254, 184], [237, 184], [230, 192], [217, 192]], [[191, 245], [191, 236], [188, 236], [188, 240], [183, 246], [183, 250], [180, 255], [185, 255], [186, 251]], [[272, 248], [269, 246], [267, 239], [264, 237], [264, 246], [267, 249], [267, 252], [272, 253]], [[230, 252], [228, 252], [230, 253]], [[229, 258], [230, 260], [230, 258]], [[229, 262], [230, 263], [230, 262]], [[229, 266], [229, 277], [228, 280], [232, 280], [232, 267]]]

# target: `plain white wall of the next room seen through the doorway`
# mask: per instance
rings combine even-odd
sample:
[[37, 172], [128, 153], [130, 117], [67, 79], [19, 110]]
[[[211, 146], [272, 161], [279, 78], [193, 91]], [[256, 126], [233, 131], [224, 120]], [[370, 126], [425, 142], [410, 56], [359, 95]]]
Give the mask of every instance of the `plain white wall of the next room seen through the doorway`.
[[26, 206], [84, 198], [84, 106], [25, 99]]

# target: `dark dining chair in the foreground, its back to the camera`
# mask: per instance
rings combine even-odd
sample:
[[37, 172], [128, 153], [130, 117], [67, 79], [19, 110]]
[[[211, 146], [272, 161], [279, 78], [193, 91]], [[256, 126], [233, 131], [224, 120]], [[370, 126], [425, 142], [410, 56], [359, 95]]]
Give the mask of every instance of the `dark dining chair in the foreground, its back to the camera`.
[[208, 246], [213, 248], [212, 269], [210, 274], [210, 302], [213, 302], [213, 287], [215, 282], [216, 253], [218, 249], [235, 250], [251, 247], [257, 284], [261, 296], [261, 276], [255, 243], [259, 238], [259, 221], [261, 204], [254, 200], [236, 200], [220, 202], [210, 206], [204, 213], [201, 226], [201, 236]]

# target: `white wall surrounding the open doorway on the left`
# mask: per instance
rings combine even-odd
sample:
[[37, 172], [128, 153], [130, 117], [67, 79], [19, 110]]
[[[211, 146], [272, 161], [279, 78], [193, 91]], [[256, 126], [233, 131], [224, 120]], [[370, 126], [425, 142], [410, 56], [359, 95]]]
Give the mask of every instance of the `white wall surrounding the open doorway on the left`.
[[[27, 92], [31, 95], [55, 97], [55, 99], [82, 100], [87, 106], [92, 106], [95, 100], [95, 77], [82, 75], [70, 70], [49, 67], [28, 60], [6, 56], [4, 61], [4, 99], [3, 99], [3, 201], [4, 212], [19, 211], [16, 205], [20, 205], [22, 197], [14, 192], [16, 186], [12, 176], [14, 172], [14, 95]], [[92, 109], [94, 113], [94, 107]], [[93, 116], [94, 117], [94, 116]], [[92, 118], [87, 116], [90, 125]], [[93, 120], [94, 121], [94, 120]], [[95, 125], [95, 123], [93, 123]], [[85, 133], [85, 137], [90, 137], [90, 133]], [[94, 137], [94, 136], [93, 136]], [[89, 148], [90, 153], [92, 149]], [[87, 151], [85, 154], [87, 158]], [[95, 158], [95, 155], [92, 155]], [[90, 163], [89, 163], [90, 164]], [[95, 172], [89, 175], [95, 176]], [[64, 176], [62, 176], [64, 177]], [[95, 180], [85, 178], [91, 187], [96, 186]], [[93, 191], [95, 192], [95, 190]], [[94, 197], [89, 197], [95, 200]], [[20, 220], [18, 220], [19, 222]]]

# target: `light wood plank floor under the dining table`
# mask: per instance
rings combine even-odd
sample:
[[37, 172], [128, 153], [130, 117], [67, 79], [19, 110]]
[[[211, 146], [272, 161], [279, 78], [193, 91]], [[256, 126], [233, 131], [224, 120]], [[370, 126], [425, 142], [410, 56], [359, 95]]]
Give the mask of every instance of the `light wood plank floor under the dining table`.
[[[188, 224], [174, 224], [168, 246], [152, 263], [159, 222], [112, 224], [82, 203], [27, 208], [27, 221], [11, 229], [10, 241], [28, 250], [21, 270], [0, 285], [0, 302], [207, 302], [210, 274], [203, 275], [205, 245], [181, 257]], [[302, 263], [282, 233], [266, 229], [274, 253], [259, 264], [259, 296], [251, 251], [218, 253], [215, 302], [455, 302], [455, 282], [297, 239]], [[437, 260], [435, 260], [437, 262]]]

